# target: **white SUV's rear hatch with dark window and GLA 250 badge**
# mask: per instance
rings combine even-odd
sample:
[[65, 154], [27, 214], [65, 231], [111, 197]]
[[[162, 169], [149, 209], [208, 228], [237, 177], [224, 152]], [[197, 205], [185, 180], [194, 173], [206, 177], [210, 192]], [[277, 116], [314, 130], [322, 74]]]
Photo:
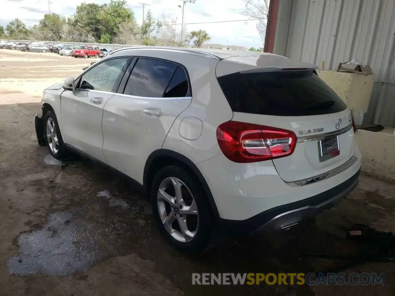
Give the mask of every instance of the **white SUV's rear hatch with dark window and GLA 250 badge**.
[[[350, 161], [355, 141], [352, 114], [340, 97], [314, 69], [289, 67], [289, 63], [260, 68], [258, 62], [250, 69], [227, 74], [231, 63], [222, 60], [216, 72], [233, 110], [232, 121], [264, 126], [256, 127], [263, 133], [270, 133], [271, 127], [286, 130], [290, 139], [288, 146], [277, 142], [282, 145], [283, 153], [268, 159], [273, 161], [284, 181], [294, 182], [318, 176]], [[239, 65], [243, 67], [246, 65]], [[223, 73], [226, 74], [221, 75]], [[254, 141], [256, 144], [257, 139]], [[262, 143], [269, 149], [265, 141]], [[272, 144], [276, 141], [278, 139], [271, 140]], [[259, 154], [258, 150], [254, 153]]]

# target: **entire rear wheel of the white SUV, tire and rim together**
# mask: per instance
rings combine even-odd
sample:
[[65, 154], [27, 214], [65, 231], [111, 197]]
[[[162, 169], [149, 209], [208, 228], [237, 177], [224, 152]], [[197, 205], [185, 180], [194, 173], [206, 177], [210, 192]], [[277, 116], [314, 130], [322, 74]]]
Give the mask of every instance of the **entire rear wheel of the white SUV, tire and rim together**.
[[199, 253], [216, 242], [217, 227], [207, 196], [190, 170], [177, 165], [158, 170], [150, 199], [156, 224], [179, 251]]

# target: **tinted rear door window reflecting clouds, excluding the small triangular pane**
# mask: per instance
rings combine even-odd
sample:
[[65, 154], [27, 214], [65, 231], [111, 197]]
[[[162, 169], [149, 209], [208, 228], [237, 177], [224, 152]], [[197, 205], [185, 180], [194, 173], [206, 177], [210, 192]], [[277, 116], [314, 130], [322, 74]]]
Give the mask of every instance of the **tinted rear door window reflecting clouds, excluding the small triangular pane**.
[[139, 97], [162, 97], [177, 65], [139, 58], [126, 83], [124, 94]]

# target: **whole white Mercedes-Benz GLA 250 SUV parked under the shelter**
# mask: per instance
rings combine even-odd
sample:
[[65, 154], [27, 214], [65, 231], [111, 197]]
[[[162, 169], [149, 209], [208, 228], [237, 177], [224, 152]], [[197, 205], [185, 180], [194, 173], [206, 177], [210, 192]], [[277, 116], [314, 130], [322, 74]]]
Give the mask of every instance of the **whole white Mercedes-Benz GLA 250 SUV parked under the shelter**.
[[346, 197], [361, 168], [351, 111], [314, 67], [275, 54], [120, 49], [41, 106], [39, 144], [135, 180], [187, 252], [288, 229]]

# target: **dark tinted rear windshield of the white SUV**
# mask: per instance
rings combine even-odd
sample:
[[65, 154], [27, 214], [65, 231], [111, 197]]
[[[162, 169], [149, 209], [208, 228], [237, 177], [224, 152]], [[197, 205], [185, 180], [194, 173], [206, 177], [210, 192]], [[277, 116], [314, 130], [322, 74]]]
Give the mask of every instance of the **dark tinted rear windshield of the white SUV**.
[[218, 77], [233, 112], [308, 116], [343, 111], [346, 105], [313, 71], [233, 73]]

